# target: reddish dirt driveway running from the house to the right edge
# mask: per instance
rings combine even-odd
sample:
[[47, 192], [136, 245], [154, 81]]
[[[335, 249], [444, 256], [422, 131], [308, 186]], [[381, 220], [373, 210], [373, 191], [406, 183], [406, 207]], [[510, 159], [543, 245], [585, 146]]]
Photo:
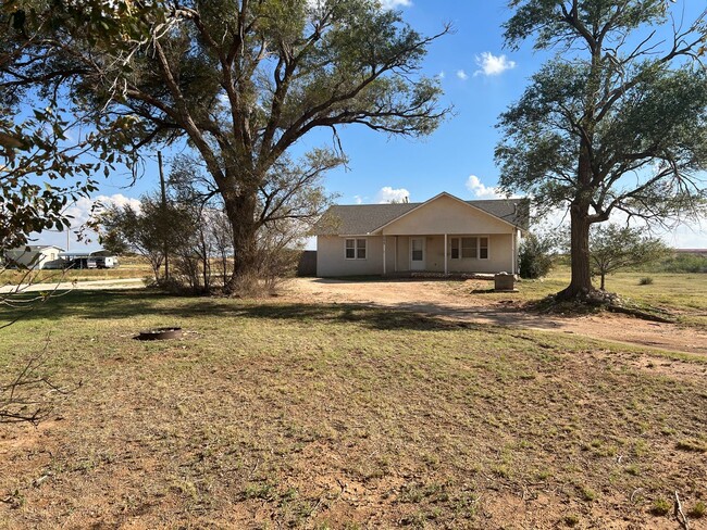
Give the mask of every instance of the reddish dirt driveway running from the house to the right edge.
[[707, 354], [707, 333], [673, 324], [601, 314], [563, 318], [537, 315], [518, 307], [518, 300], [489, 300], [474, 294], [474, 282], [452, 289], [446, 281], [388, 280], [351, 281], [297, 278], [287, 287], [287, 295], [301, 302], [360, 303], [413, 311], [456, 320], [537, 329], [620, 343], [637, 344], [686, 353]]

